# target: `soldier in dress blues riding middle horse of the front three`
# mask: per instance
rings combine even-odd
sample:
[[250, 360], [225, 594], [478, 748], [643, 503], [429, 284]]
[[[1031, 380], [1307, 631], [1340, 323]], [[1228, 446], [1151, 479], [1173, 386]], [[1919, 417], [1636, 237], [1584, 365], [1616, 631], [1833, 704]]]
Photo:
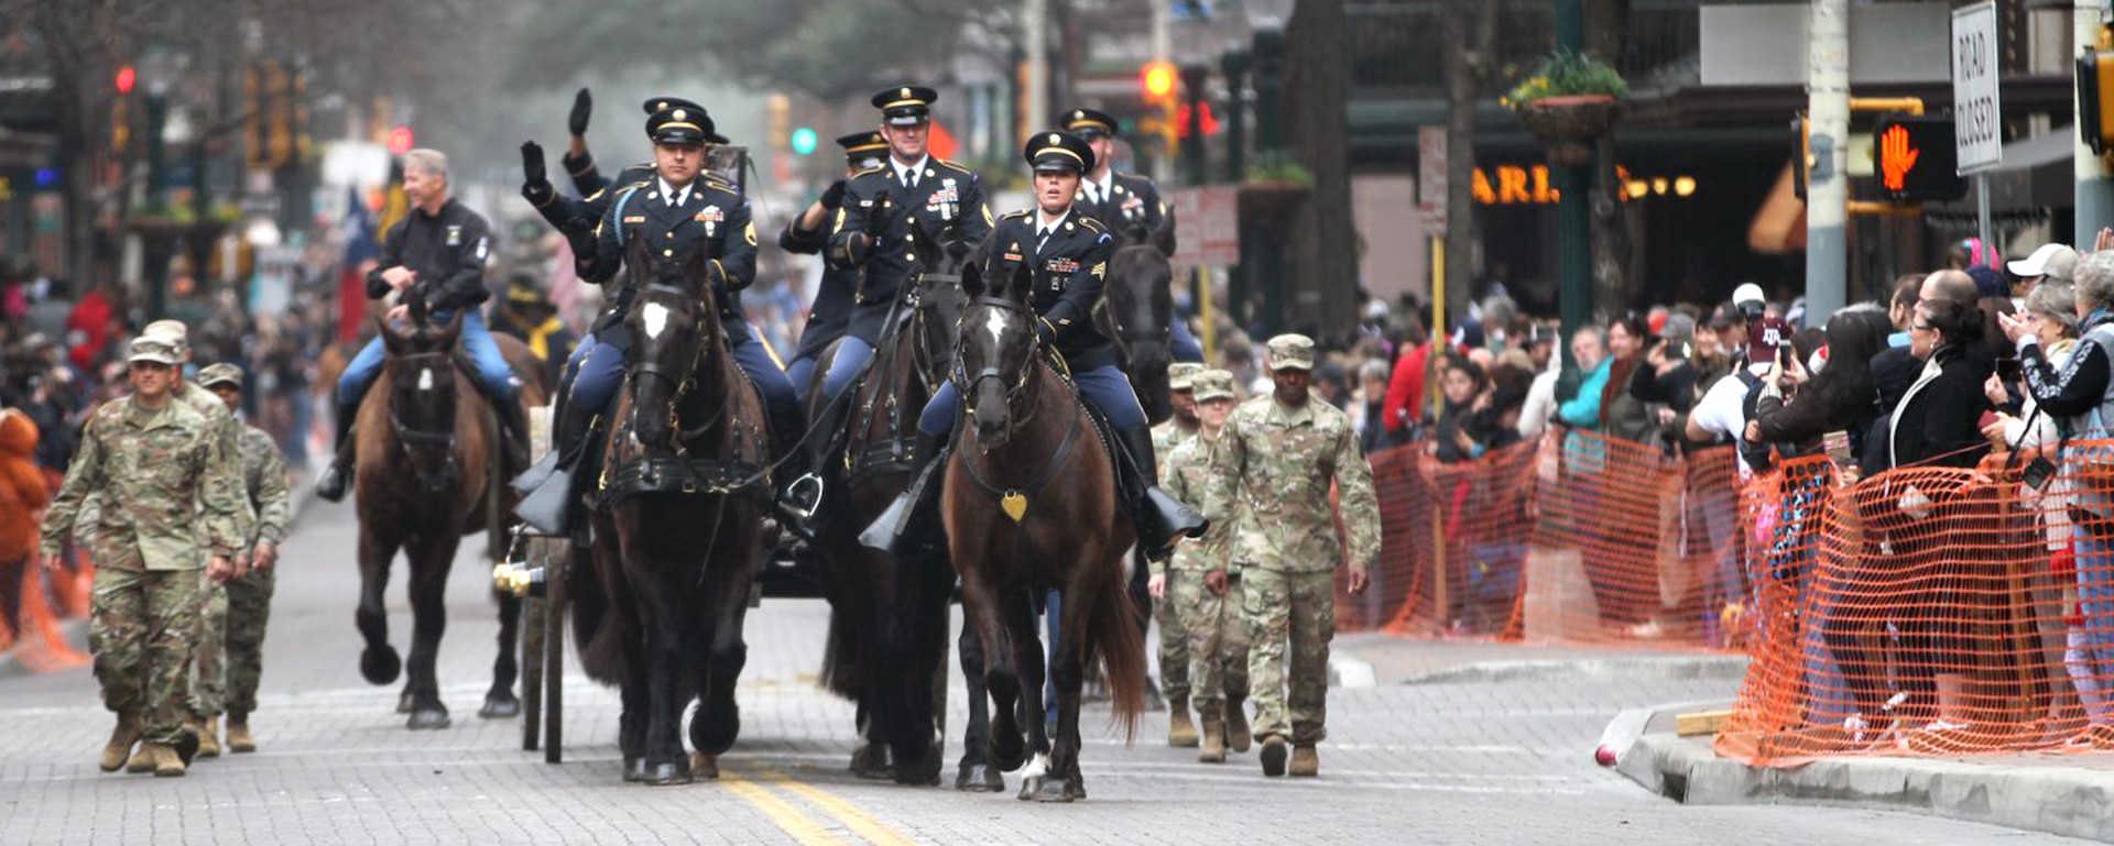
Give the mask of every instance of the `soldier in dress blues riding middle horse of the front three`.
[[[852, 300], [843, 344], [822, 376], [824, 414], [816, 422], [822, 437], [843, 428], [850, 403], [833, 401], [873, 361], [873, 350], [888, 331], [888, 314], [909, 314], [896, 308], [896, 300], [911, 291], [909, 281], [917, 272], [911, 243], [939, 238], [949, 224], [966, 243], [981, 243], [991, 232], [991, 209], [983, 203], [977, 173], [926, 152], [934, 99], [939, 93], [920, 84], [873, 95], [873, 108], [882, 110], [879, 131], [888, 139], [888, 160], [846, 179], [843, 207], [829, 232], [829, 266], [858, 268], [865, 276]], [[820, 502], [820, 479], [795, 479], [784, 498], [795, 508], [812, 511]]]

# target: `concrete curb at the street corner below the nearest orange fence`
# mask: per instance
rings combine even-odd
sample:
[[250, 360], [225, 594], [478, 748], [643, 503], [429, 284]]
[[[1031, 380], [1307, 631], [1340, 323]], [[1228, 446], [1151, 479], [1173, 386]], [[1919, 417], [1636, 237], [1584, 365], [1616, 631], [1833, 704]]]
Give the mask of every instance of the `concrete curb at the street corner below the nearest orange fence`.
[[1803, 804], [1898, 810], [2114, 842], [2114, 772], [2063, 766], [1968, 764], [1924, 757], [1839, 757], [1801, 768], [1753, 768], [1717, 757], [1708, 738], [1672, 732], [1679, 711], [1725, 703], [1664, 705], [1626, 711], [1605, 738], [1617, 745], [1617, 772], [1683, 804]]

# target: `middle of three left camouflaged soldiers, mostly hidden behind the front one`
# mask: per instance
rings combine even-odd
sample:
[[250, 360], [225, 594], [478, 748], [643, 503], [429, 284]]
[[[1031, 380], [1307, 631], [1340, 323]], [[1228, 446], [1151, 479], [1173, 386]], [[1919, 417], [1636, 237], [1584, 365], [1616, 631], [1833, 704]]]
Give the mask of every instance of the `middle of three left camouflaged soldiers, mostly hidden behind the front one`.
[[[184, 321], [154, 321], [140, 329], [140, 338], [152, 338], [175, 350], [178, 369], [190, 363], [190, 331]], [[203, 414], [209, 422], [214, 437], [216, 456], [224, 456], [226, 475], [233, 481], [233, 496], [239, 502], [235, 515], [235, 530], [239, 538], [249, 538], [256, 534], [256, 513], [249, 506], [249, 496], [243, 494], [243, 468], [241, 468], [241, 420], [235, 420], [235, 411], [228, 409], [220, 397], [214, 397], [205, 388], [178, 378], [175, 386], [169, 388], [171, 397], [180, 403], [190, 405]], [[207, 538], [201, 534], [199, 544], [203, 546]], [[235, 563], [247, 568], [249, 546], [237, 546]], [[205, 608], [199, 614], [199, 637], [192, 641], [192, 660], [197, 662], [190, 677], [190, 700], [188, 700], [188, 728], [199, 736], [199, 757], [220, 755], [220, 730], [218, 715], [222, 698], [226, 698], [226, 654], [222, 643], [226, 641], [228, 622], [228, 593], [220, 584], [205, 584]], [[207, 728], [207, 722], [214, 728]]]

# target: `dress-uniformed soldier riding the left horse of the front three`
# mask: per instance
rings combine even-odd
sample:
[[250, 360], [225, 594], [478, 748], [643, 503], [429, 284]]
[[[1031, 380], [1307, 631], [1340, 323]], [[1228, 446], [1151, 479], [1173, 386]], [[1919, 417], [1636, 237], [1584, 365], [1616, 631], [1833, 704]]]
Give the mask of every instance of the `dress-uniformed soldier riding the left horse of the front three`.
[[[609, 209], [596, 226], [594, 251], [579, 255], [579, 276], [590, 283], [607, 283], [624, 264], [626, 245], [645, 241], [662, 255], [676, 255], [681, 249], [702, 249], [710, 255], [710, 283], [723, 291], [721, 321], [725, 323], [729, 354], [742, 373], [763, 395], [769, 411], [774, 454], [782, 456], [786, 445], [799, 437], [799, 401], [784, 369], [772, 359], [765, 344], [742, 316], [738, 291], [748, 287], [757, 274], [757, 228], [748, 217], [744, 200], [731, 184], [704, 169], [704, 141], [712, 137], [712, 118], [696, 110], [689, 101], [676, 105], [668, 97], [668, 108], [647, 118], [647, 137], [653, 139], [653, 175], [643, 181], [617, 186], [611, 192]], [[634, 268], [632, 278], [643, 268]], [[596, 344], [581, 352], [573, 367], [569, 401], [558, 418], [558, 460], [516, 515], [531, 527], [548, 534], [564, 532], [571, 523], [573, 483], [579, 456], [594, 416], [607, 411], [624, 382], [624, 314], [636, 291], [626, 285], [615, 304], [602, 312], [594, 325]]]

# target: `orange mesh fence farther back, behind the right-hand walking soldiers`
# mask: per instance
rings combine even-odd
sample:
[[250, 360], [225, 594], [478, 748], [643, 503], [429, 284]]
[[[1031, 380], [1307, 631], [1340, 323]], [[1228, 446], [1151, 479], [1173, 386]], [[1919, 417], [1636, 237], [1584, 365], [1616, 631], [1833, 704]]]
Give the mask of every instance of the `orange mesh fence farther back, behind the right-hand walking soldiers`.
[[1383, 553], [1338, 629], [1535, 641], [1738, 646], [1731, 449], [1668, 458], [1573, 432], [1442, 464], [1372, 456]]

